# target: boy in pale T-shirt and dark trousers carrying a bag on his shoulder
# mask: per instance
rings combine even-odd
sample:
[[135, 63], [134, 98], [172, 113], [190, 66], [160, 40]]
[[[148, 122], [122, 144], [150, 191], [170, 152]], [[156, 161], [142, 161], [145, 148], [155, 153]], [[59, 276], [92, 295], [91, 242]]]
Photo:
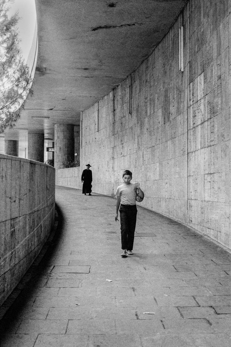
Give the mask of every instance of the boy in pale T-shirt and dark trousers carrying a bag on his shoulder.
[[119, 210], [121, 224], [122, 257], [126, 257], [127, 254], [133, 254], [132, 249], [137, 214], [135, 188], [138, 189], [139, 197], [141, 199], [143, 199], [144, 197], [144, 193], [140, 189], [140, 185], [137, 183], [131, 183], [131, 180], [132, 172], [125, 170], [123, 172], [124, 183], [121, 186], [118, 186], [115, 192], [115, 195], [117, 195], [115, 221], [118, 220]]

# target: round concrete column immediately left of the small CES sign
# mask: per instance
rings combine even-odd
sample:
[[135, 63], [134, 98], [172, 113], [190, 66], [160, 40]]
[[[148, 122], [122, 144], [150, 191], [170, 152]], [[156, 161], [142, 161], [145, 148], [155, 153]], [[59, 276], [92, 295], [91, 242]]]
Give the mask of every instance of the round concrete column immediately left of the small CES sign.
[[44, 134], [28, 134], [28, 159], [44, 162]]

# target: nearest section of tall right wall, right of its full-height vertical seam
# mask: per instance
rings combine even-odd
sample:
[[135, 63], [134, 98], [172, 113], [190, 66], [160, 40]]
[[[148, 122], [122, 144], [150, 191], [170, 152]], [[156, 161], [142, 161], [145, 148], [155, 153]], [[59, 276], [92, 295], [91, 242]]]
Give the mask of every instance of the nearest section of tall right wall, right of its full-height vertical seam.
[[231, 2], [189, 8], [188, 223], [231, 248]]

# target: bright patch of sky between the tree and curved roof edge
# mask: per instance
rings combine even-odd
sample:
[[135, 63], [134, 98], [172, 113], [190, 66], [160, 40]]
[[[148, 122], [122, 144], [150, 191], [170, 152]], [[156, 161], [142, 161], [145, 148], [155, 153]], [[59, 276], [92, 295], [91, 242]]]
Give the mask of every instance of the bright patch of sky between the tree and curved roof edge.
[[15, 0], [13, 3], [9, 3], [9, 5], [11, 6], [10, 11], [8, 12], [9, 17], [18, 11], [19, 39], [21, 40], [20, 46], [26, 62], [35, 32], [35, 0]]

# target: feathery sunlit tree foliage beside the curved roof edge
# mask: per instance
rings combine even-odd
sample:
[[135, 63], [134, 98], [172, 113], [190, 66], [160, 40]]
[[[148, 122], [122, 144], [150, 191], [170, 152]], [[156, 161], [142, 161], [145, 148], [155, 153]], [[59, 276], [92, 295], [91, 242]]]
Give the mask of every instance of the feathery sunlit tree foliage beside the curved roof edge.
[[26, 96], [32, 95], [32, 79], [19, 48], [18, 13], [7, 15], [10, 2], [0, 1], [0, 133], [14, 126]]

